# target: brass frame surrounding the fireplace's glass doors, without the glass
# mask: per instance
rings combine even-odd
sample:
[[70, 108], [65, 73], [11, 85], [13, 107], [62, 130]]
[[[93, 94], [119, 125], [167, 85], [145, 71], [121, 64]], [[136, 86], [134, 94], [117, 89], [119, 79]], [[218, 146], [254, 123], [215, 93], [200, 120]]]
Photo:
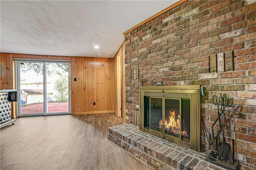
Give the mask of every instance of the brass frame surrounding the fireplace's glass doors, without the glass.
[[[140, 86], [140, 130], [166, 139], [178, 145], [196, 150], [201, 149], [201, 102], [200, 85]], [[150, 96], [149, 96], [150, 95]], [[182, 141], [165, 133], [144, 127], [144, 96], [190, 99], [190, 142]], [[163, 109], [164, 110], [164, 109]]]

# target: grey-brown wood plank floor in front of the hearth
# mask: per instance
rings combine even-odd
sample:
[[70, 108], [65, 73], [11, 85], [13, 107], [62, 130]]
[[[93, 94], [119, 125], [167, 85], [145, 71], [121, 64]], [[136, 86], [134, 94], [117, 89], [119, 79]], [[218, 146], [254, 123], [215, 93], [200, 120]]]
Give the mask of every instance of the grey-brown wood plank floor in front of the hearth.
[[18, 118], [1, 129], [0, 169], [151, 169], [107, 140], [121, 123], [114, 113]]

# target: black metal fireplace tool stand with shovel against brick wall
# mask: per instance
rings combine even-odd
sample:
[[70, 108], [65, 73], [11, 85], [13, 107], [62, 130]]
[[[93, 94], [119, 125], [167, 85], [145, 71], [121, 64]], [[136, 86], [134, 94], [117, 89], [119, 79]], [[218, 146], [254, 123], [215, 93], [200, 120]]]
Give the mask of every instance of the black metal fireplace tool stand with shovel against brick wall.
[[[208, 145], [209, 148], [206, 149], [208, 151], [208, 156], [206, 161], [226, 168], [228, 170], [238, 170], [240, 168], [239, 161], [234, 158], [234, 140], [233, 140], [233, 155], [231, 156], [231, 147], [228, 143], [225, 142], [224, 136], [224, 125], [225, 125], [225, 109], [226, 107], [232, 107], [234, 102], [234, 98], [227, 98], [226, 93], [217, 97], [213, 96], [212, 103], [218, 108], [218, 117], [214, 121], [211, 126], [212, 131], [212, 142], [211, 141], [211, 133], [209, 131]], [[216, 123], [219, 123], [220, 130], [216, 135], [214, 135], [214, 126]], [[204, 125], [205, 126], [205, 125]], [[204, 127], [205, 133], [206, 128]], [[218, 143], [218, 137], [222, 132], [222, 142]], [[207, 135], [207, 133], [206, 133]]]

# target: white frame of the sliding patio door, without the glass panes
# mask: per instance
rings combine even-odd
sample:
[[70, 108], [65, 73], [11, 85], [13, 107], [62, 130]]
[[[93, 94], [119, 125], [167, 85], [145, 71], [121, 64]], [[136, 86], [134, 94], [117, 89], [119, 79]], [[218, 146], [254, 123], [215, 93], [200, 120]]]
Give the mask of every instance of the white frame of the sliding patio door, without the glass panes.
[[[71, 61], [67, 60], [40, 60], [40, 59], [14, 59], [15, 68], [16, 68], [16, 87], [18, 90], [18, 114], [17, 117], [32, 117], [32, 116], [44, 116], [44, 115], [66, 115], [71, 114], [71, 69], [70, 66], [68, 68], [68, 112], [58, 112], [58, 113], [47, 113], [47, 72], [46, 72], [46, 64], [47, 63], [67, 63], [71, 64]], [[21, 89], [20, 89], [20, 63], [43, 63], [43, 98], [44, 98], [44, 113], [31, 113], [31, 114], [21, 114]]]

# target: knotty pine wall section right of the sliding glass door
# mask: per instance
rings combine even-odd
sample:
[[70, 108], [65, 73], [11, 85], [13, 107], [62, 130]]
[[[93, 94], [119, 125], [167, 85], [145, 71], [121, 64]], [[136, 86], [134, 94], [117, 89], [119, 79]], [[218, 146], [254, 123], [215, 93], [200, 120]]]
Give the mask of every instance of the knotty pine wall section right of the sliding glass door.
[[114, 112], [114, 69], [114, 59], [72, 58], [72, 114]]

